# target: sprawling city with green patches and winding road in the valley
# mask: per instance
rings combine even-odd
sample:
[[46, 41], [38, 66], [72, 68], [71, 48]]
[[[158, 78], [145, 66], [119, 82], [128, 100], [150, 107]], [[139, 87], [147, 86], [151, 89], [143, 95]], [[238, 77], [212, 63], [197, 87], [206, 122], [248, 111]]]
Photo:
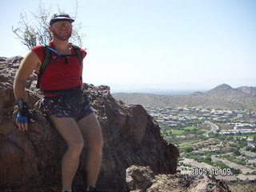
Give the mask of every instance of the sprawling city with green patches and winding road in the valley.
[[162, 136], [180, 151], [182, 174], [214, 175], [228, 183], [256, 182], [256, 112], [152, 107]]

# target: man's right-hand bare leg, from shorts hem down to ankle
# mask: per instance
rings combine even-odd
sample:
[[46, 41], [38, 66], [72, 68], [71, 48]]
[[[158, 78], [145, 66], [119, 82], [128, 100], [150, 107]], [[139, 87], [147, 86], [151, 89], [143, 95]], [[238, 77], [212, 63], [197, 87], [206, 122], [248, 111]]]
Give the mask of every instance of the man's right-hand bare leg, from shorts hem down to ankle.
[[86, 157], [87, 186], [96, 185], [99, 170], [102, 165], [102, 129], [95, 114], [89, 114], [78, 122], [83, 138], [88, 146]]

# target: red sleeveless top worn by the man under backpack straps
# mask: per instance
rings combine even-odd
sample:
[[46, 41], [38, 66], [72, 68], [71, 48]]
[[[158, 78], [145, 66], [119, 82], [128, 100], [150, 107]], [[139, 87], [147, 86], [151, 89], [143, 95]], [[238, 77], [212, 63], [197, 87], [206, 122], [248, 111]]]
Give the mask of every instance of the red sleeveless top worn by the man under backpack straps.
[[[50, 47], [54, 49], [54, 45], [50, 42]], [[75, 54], [72, 46], [71, 54]], [[45, 58], [45, 48], [40, 46], [32, 47], [32, 50], [38, 55], [38, 58], [43, 61]], [[86, 51], [80, 48], [82, 58], [86, 57]], [[52, 57], [57, 56], [54, 51], [51, 51]], [[57, 62], [58, 61], [58, 62]], [[55, 63], [54, 63], [55, 62]], [[69, 58], [51, 58], [46, 70], [43, 72], [40, 79], [42, 90], [65, 90], [81, 85], [82, 64], [79, 58], [72, 56]], [[45, 96], [54, 96], [54, 94], [43, 93]]]

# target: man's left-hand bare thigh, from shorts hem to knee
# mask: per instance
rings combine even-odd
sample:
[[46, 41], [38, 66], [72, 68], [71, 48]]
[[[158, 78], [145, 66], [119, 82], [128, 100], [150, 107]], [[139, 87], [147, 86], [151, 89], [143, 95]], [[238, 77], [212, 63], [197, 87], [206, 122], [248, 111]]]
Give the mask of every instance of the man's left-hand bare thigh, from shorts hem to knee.
[[54, 123], [58, 133], [62, 135], [67, 144], [83, 143], [81, 130], [74, 118], [56, 118], [50, 115], [50, 121]]

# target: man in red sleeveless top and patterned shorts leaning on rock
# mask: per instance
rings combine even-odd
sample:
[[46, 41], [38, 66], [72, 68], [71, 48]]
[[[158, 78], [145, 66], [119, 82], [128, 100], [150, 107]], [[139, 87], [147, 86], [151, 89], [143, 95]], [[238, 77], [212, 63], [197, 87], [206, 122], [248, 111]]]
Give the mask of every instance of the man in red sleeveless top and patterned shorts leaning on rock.
[[[62, 191], [71, 191], [84, 141], [88, 147], [86, 191], [95, 191], [102, 163], [102, 130], [82, 95], [82, 63], [79, 62], [74, 47], [68, 42], [72, 33], [72, 22], [74, 19], [68, 14], [54, 14], [49, 26], [53, 34], [50, 45], [34, 46], [23, 59], [14, 79], [14, 96], [19, 107], [16, 125], [19, 130], [26, 131], [28, 122], [34, 122], [25, 102], [25, 82], [33, 71], [39, 74], [45, 50], [50, 49], [51, 59], [40, 77], [39, 84], [45, 96], [41, 101], [42, 110], [67, 144], [62, 158]], [[85, 58], [86, 51], [79, 49], [82, 58]]]

